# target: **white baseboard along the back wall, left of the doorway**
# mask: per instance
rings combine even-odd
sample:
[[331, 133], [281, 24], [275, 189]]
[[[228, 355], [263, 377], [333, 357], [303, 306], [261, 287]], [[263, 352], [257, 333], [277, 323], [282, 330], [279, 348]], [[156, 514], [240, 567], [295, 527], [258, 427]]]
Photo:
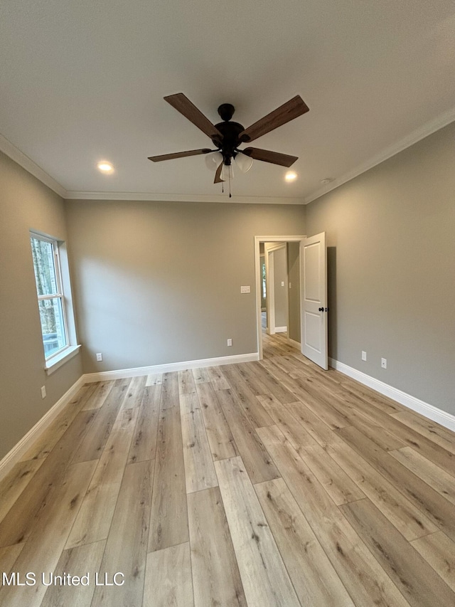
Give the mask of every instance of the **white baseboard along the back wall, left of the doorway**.
[[150, 375], [154, 373], [168, 373], [170, 371], [184, 371], [185, 369], [198, 369], [202, 366], [220, 366], [222, 364], [236, 364], [240, 362], [251, 362], [259, 360], [259, 354], [237, 354], [231, 357], [216, 357], [213, 359], [200, 359], [182, 362], [170, 362], [167, 364], [155, 364], [152, 366], [138, 366], [135, 369], [119, 369], [117, 371], [100, 371], [99, 373], [89, 373], [84, 376], [84, 380], [103, 381], [106, 379], [124, 379], [139, 375]]

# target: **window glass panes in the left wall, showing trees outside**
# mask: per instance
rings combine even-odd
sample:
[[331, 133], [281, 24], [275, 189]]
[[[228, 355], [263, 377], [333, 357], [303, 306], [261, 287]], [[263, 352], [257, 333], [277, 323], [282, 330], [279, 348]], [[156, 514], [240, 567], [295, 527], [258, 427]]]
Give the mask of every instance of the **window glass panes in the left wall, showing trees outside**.
[[48, 359], [68, 346], [58, 241], [32, 234], [31, 250], [44, 354]]

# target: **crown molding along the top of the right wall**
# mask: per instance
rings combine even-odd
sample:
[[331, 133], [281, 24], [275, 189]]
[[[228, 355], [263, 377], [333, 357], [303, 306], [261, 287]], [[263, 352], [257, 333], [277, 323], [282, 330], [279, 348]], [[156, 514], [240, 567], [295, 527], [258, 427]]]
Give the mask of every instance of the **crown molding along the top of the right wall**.
[[304, 204], [309, 204], [310, 202], [321, 198], [321, 196], [323, 196], [324, 194], [328, 194], [328, 192], [338, 188], [339, 186], [342, 186], [343, 184], [346, 184], [351, 179], [354, 179], [362, 173], [365, 173], [365, 171], [373, 169], [373, 167], [376, 167], [378, 164], [381, 164], [381, 162], [384, 162], [392, 156], [395, 156], [395, 154], [399, 154], [404, 149], [407, 149], [407, 147], [411, 147], [412, 145], [421, 141], [425, 137], [428, 137], [434, 132], [439, 131], [439, 129], [446, 127], [451, 122], [454, 122], [454, 120], [455, 107], [452, 107], [451, 110], [444, 112], [444, 114], [441, 114], [434, 120], [426, 122], [422, 127], [419, 127], [418, 129], [414, 130], [412, 133], [407, 135], [407, 137], [400, 139], [399, 142], [396, 142], [390, 147], [386, 147], [382, 150], [382, 152], [376, 154], [376, 156], [373, 156], [373, 158], [370, 158], [367, 162], [360, 164], [360, 166], [358, 166], [353, 171], [350, 171], [349, 173], [338, 177], [338, 179], [334, 179], [333, 181], [331, 181], [330, 184], [327, 184], [323, 188], [320, 188], [319, 190], [314, 192], [314, 194], [310, 194], [310, 196], [305, 199]]

